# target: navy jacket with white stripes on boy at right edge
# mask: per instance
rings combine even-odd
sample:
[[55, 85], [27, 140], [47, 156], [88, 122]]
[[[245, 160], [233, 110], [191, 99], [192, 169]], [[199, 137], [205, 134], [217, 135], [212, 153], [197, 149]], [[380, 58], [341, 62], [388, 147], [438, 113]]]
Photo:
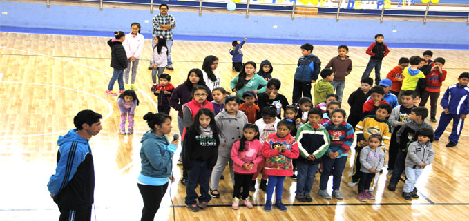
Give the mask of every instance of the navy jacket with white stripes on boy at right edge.
[[443, 109], [449, 109], [450, 114], [468, 114], [469, 87], [459, 83], [451, 85], [441, 98], [440, 105]]

